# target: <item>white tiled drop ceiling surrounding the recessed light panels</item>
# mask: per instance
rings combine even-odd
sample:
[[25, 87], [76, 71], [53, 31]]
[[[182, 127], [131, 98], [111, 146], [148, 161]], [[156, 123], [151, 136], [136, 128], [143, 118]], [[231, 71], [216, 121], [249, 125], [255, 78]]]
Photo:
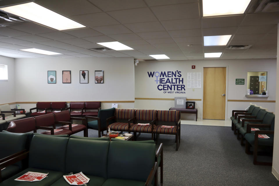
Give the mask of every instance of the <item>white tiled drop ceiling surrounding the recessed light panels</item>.
[[[253, 1], [253, 0], [252, 0]], [[0, 7], [26, 3], [1, 0]], [[134, 57], [196, 60], [207, 52], [223, 52], [221, 58], [276, 58], [277, 12], [202, 17], [201, 0], [33, 0], [69, 17], [86, 28], [58, 31], [34, 22], [0, 27], [0, 55], [12, 58]], [[203, 36], [232, 35], [228, 45], [252, 45], [246, 50], [203, 46]], [[131, 51], [94, 52], [96, 42], [119, 41]], [[192, 46], [188, 46], [192, 45]], [[62, 55], [45, 56], [20, 51], [37, 48]], [[210, 58], [212, 59], [212, 58]]]

